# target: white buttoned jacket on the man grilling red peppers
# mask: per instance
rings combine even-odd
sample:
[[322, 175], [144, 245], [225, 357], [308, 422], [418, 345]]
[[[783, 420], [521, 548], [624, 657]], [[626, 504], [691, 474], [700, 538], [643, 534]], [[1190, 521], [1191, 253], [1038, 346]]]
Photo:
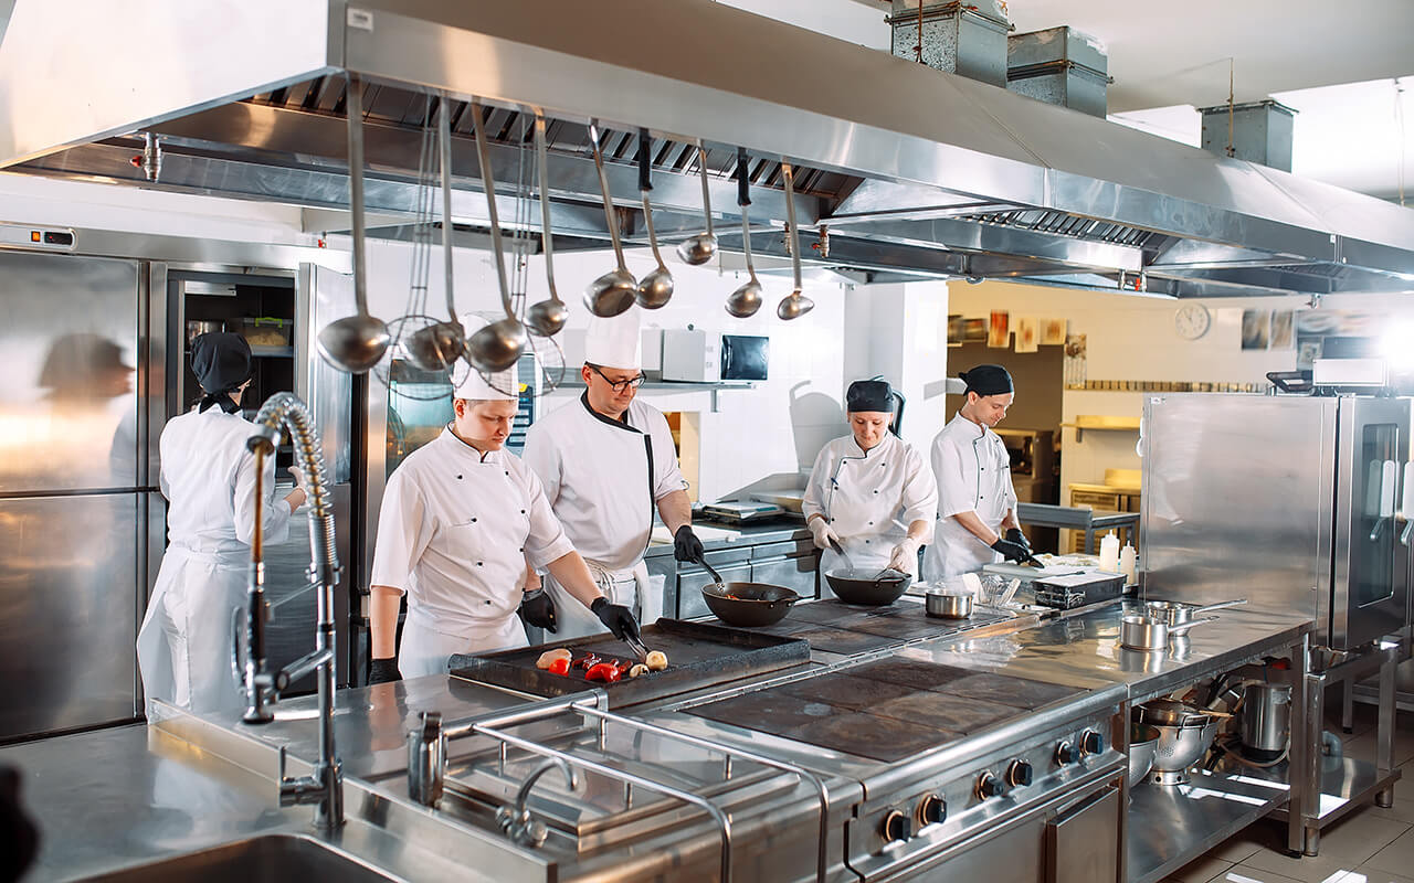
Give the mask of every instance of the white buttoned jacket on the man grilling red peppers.
[[378, 517], [370, 582], [407, 592], [399, 670], [417, 677], [445, 671], [451, 653], [523, 646], [526, 558], [546, 567], [573, 551], [519, 458], [443, 429], [389, 476]]

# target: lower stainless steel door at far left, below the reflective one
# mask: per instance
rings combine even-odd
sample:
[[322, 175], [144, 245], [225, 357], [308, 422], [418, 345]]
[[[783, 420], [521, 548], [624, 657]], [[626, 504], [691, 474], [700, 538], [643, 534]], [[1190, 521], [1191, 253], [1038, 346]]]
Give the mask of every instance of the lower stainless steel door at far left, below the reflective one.
[[0, 739], [133, 718], [137, 494], [0, 502]]

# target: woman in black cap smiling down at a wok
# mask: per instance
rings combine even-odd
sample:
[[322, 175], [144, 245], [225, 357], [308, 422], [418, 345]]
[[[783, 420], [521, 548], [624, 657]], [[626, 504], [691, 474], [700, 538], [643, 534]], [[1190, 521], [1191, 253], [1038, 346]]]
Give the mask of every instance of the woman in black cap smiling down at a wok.
[[885, 380], [851, 383], [844, 396], [850, 435], [814, 458], [800, 510], [826, 574], [843, 568], [831, 548], [839, 544], [855, 568], [912, 576], [918, 550], [932, 541], [937, 486], [922, 452], [889, 431], [892, 398]]

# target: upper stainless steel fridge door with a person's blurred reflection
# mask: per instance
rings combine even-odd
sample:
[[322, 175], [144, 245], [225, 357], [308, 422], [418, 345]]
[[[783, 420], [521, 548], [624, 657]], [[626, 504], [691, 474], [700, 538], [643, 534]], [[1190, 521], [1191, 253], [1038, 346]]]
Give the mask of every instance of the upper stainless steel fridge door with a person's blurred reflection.
[[137, 261], [0, 254], [0, 494], [137, 486]]

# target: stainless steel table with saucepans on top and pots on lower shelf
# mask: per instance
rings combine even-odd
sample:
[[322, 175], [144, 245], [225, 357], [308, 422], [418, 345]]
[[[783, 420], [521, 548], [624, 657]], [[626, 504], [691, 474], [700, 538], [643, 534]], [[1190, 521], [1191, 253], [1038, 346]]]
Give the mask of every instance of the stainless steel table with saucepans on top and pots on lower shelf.
[[[1305, 682], [1308, 636], [1315, 623], [1250, 609], [1223, 610], [1217, 622], [1193, 629], [1188, 641], [1161, 653], [1120, 647], [1126, 605], [1111, 605], [1008, 634], [960, 636], [937, 644], [919, 644], [899, 653], [950, 665], [967, 665], [1036, 681], [1103, 688], [1123, 684], [1130, 704], [1168, 694], [1202, 678], [1215, 677], [1266, 656], [1291, 658], [1292, 682]], [[1299, 692], [1299, 687], [1297, 688]], [[1305, 732], [1305, 709], [1292, 701], [1291, 732]], [[1292, 770], [1311, 770], [1285, 783], [1263, 783], [1247, 776], [1198, 773], [1191, 786], [1140, 786], [1130, 791], [1128, 879], [1147, 883], [1182, 867], [1223, 839], [1285, 804], [1315, 805], [1307, 794], [1319, 794], [1318, 764], [1308, 763], [1315, 746], [1291, 742]], [[1302, 802], [1304, 801], [1304, 802]], [[1305, 848], [1309, 819], [1294, 814], [1287, 841], [1292, 852]]]

